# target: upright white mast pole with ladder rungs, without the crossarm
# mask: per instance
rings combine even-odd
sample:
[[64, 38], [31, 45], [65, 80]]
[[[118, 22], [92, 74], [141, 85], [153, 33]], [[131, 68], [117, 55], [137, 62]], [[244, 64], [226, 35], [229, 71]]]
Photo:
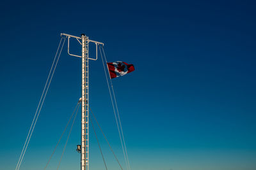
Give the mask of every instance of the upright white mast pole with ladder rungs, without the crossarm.
[[82, 36], [81, 170], [89, 169], [88, 37]]

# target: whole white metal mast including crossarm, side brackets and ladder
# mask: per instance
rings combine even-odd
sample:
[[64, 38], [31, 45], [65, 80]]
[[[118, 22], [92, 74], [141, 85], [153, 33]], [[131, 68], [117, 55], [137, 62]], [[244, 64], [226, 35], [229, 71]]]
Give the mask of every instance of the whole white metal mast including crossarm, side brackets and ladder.
[[[72, 36], [69, 34], [61, 33], [61, 36], [68, 38], [68, 54], [82, 58], [82, 93], [81, 93], [81, 170], [89, 170], [89, 43], [95, 43], [97, 60], [97, 46], [104, 45], [98, 41], [93, 41], [85, 34], [81, 34], [81, 37]], [[69, 39], [70, 37], [76, 38], [77, 41], [81, 39], [82, 42], [82, 56], [74, 55], [69, 52]]]

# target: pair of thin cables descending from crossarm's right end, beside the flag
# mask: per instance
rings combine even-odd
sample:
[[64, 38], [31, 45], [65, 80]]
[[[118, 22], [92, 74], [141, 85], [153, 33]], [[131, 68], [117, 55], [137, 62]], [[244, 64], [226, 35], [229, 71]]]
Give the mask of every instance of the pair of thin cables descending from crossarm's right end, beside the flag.
[[[106, 62], [106, 64], [108, 62], [107, 62], [107, 59], [106, 59], [104, 48], [102, 46], [101, 46], [101, 48], [102, 48], [102, 52], [104, 54], [104, 60], [103, 60], [103, 57], [102, 57], [101, 50], [100, 50], [100, 55], [101, 55], [102, 64], [103, 64], [103, 67], [104, 67], [104, 72], [105, 72], [106, 80], [107, 80], [107, 83], [108, 83], [108, 90], [109, 90], [109, 94], [110, 94], [110, 98], [111, 98], [111, 103], [112, 103], [114, 114], [115, 114], [116, 125], [117, 125], [117, 129], [118, 129], [118, 133], [119, 133], [119, 136], [120, 136], [120, 141], [121, 141], [121, 145], [122, 145], [122, 149], [123, 149], [123, 153], [124, 153], [125, 164], [127, 166], [127, 169], [131, 169], [130, 163], [129, 163], [129, 159], [128, 159], [128, 154], [127, 154], [127, 149], [126, 149], [126, 145], [125, 145], [125, 139], [124, 139], [124, 133], [123, 133], [122, 124], [121, 124], [121, 120], [120, 120], [120, 115], [119, 115], [119, 111], [118, 111], [118, 107], [117, 107], [117, 103], [116, 103], [116, 97], [115, 97], [115, 91], [114, 91], [114, 88], [113, 88], [113, 83], [112, 83], [110, 75], [109, 75], [109, 81], [111, 83], [111, 90], [112, 90], [112, 93], [113, 93], [113, 97], [112, 97], [111, 90], [110, 90], [110, 87], [109, 87], [108, 76], [107, 76], [106, 68], [105, 68], [105, 64], [104, 64], [104, 62]], [[100, 49], [100, 47], [99, 47], [99, 49]], [[107, 66], [107, 69], [108, 69], [108, 66]], [[108, 73], [109, 73], [109, 70], [108, 70]], [[114, 98], [114, 101], [115, 101], [115, 106], [114, 106], [114, 103], [113, 103], [113, 98]], [[116, 108], [116, 111], [115, 111], [115, 108]], [[116, 118], [116, 113], [118, 115], [118, 120]], [[120, 125], [120, 129], [119, 129], [118, 122], [119, 122], [119, 125]], [[120, 133], [120, 130], [121, 130], [121, 133]], [[122, 136], [121, 136], [121, 134], [122, 134]]]

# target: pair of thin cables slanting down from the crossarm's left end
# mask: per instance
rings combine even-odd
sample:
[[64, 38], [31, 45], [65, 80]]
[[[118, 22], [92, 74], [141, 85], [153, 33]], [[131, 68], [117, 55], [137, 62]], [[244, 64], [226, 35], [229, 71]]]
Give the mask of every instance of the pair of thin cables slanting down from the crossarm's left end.
[[[62, 46], [61, 46], [61, 41], [62, 41], [62, 39], [64, 39], [64, 41], [63, 41], [63, 44], [62, 44]], [[53, 75], [54, 75], [56, 66], [57, 66], [57, 64], [58, 64], [58, 60], [60, 59], [60, 54], [61, 54], [61, 52], [62, 52], [63, 45], [65, 44], [65, 40], [66, 40], [65, 38], [61, 38], [61, 40], [60, 40], [60, 43], [59, 43], [59, 46], [58, 46], [56, 55], [55, 55], [54, 60], [53, 60], [53, 62], [52, 62], [51, 70], [50, 70], [50, 72], [49, 72], [49, 75], [48, 75], [48, 77], [47, 77], [47, 80], [46, 80], [46, 83], [45, 83], [45, 86], [44, 86], [44, 90], [43, 90], [43, 92], [42, 92], [42, 96], [40, 97], [40, 101], [39, 101], [38, 106], [37, 106], [37, 108], [36, 108], [35, 116], [34, 116], [34, 118], [33, 118], [31, 127], [30, 127], [29, 132], [28, 132], [28, 136], [27, 136], [26, 141], [25, 141], [25, 143], [24, 143], [24, 146], [23, 146], [23, 148], [22, 148], [22, 152], [20, 153], [19, 161], [17, 162], [17, 166], [16, 166], [15, 170], [19, 170], [20, 164], [22, 163], [22, 160], [23, 160], [24, 155], [25, 155], [25, 153], [26, 153], [26, 150], [27, 150], [27, 148], [28, 148], [29, 141], [30, 141], [31, 136], [32, 136], [32, 134], [33, 134], [33, 131], [34, 131], [34, 129], [35, 129], [35, 125], [36, 125], [36, 122], [37, 122], [38, 117], [39, 117], [39, 115], [40, 115], [40, 111], [41, 111], [41, 109], [42, 109], [42, 106], [43, 106], [43, 104], [44, 104], [45, 96], [46, 96], [46, 94], [47, 94], [47, 92], [48, 92], [48, 89], [49, 89], [49, 86], [50, 86], [50, 84], [51, 84], [52, 77], [53, 77]], [[58, 55], [60, 46], [61, 46], [61, 50], [60, 50], [60, 53], [59, 53], [59, 55]], [[58, 57], [57, 57], [57, 55], [58, 55]], [[56, 59], [57, 59], [57, 60], [56, 60]], [[56, 62], [55, 62], [55, 60], [56, 60]], [[52, 68], [53, 68], [53, 70], [52, 70]], [[50, 78], [50, 76], [51, 76], [51, 78]], [[45, 90], [45, 89], [46, 89], [46, 90]], [[38, 111], [38, 108], [40, 108], [39, 111]]]

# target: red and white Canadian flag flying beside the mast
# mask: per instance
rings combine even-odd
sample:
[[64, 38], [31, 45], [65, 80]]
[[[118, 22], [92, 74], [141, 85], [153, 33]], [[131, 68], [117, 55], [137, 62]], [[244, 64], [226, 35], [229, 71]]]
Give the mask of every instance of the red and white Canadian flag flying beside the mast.
[[127, 64], [123, 61], [108, 62], [108, 70], [111, 78], [124, 76], [134, 71], [133, 64]]

